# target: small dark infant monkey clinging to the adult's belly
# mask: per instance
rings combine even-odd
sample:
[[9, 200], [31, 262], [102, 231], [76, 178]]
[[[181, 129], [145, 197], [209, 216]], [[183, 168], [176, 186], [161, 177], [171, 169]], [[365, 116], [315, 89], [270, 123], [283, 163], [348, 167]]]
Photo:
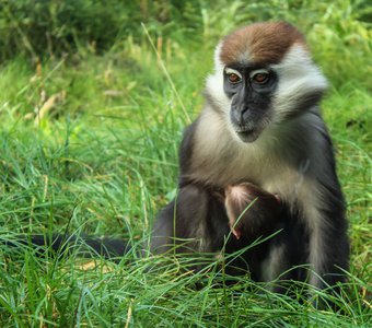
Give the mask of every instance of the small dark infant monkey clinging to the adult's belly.
[[223, 236], [223, 251], [240, 253], [226, 261], [225, 272], [233, 276], [249, 272], [252, 279], [263, 280], [261, 262], [268, 256], [271, 244], [266, 239], [275, 238], [282, 229], [279, 197], [243, 183], [224, 189], [224, 207], [233, 236]]

